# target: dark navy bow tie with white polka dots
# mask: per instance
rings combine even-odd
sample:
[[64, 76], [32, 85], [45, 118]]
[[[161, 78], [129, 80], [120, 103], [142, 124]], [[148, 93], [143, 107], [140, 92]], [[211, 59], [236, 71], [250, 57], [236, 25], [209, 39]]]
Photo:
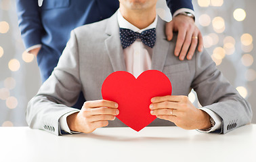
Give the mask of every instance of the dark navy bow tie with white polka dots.
[[142, 33], [133, 32], [133, 30], [126, 28], [120, 28], [120, 38], [123, 49], [133, 44], [136, 38], [142, 39], [142, 43], [153, 48], [154, 43], [156, 42], [156, 28], [145, 30]]

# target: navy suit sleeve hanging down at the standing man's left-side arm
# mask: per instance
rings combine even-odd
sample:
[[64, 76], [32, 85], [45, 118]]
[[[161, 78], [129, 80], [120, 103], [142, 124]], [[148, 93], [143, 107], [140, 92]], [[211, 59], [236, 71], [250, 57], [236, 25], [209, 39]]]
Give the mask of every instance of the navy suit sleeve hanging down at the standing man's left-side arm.
[[41, 44], [43, 26], [37, 0], [16, 0], [18, 24], [26, 49]]

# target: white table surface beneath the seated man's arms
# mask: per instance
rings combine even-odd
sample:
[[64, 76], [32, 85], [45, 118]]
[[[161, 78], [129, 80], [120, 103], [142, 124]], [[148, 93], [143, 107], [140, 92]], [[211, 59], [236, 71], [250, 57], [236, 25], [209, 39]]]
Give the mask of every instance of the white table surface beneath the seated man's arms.
[[0, 128], [0, 161], [256, 161], [256, 124], [228, 134], [178, 127], [99, 128], [56, 136], [28, 127]]

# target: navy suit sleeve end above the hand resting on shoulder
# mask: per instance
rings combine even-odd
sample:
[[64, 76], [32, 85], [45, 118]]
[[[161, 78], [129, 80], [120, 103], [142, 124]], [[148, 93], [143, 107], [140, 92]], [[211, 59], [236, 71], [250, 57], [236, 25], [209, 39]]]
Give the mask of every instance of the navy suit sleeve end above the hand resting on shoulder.
[[175, 11], [182, 8], [194, 11], [192, 0], [167, 0], [167, 5], [171, 10], [172, 15], [174, 15]]

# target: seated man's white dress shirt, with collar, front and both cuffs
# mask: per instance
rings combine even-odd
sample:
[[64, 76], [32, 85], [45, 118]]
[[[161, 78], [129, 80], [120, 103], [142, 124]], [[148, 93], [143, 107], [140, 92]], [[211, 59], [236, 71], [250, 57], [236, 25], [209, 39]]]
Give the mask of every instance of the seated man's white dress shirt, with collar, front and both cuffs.
[[[130, 30], [133, 30], [134, 32], [140, 32], [140, 33], [143, 32], [144, 30], [148, 30], [150, 28], [156, 28], [157, 19], [158, 19], [158, 16], [156, 16], [156, 18], [155, 18], [154, 22], [152, 22], [152, 24], [150, 24], [148, 27], [140, 30], [139, 28], [137, 28], [136, 26], [133, 26], [133, 24], [131, 24], [127, 20], [125, 20], [125, 18], [123, 18], [123, 16], [121, 15], [121, 12], [119, 10], [117, 13], [117, 20], [118, 20], [118, 24], [119, 24], [120, 28], [127, 28]], [[157, 36], [157, 34], [156, 34], [156, 36]], [[151, 63], [152, 63], [152, 61], [151, 61], [152, 51], [153, 51], [152, 48], [144, 45], [144, 43], [142, 43], [140, 38], [137, 38], [133, 44], [131, 44], [129, 47], [123, 49], [127, 72], [133, 74], [133, 76], [135, 76], [135, 78], [137, 78], [138, 76], [140, 76], [140, 74], [142, 74], [142, 72], [144, 72], [146, 70], [150, 70]], [[211, 130], [207, 130], [207, 131], [198, 130], [198, 131], [213, 132], [214, 130], [221, 128], [221, 118], [219, 117], [219, 115], [217, 115], [210, 109], [206, 109], [206, 108], [201, 108], [201, 109], [203, 111], [207, 112], [213, 118], [213, 120], [215, 121], [215, 126], [213, 126], [213, 128], [211, 128]], [[77, 133], [77, 132], [70, 131], [70, 129], [68, 128], [68, 124], [66, 122], [66, 117], [68, 117], [68, 115], [71, 115], [72, 113], [76, 113], [78, 111], [79, 110], [72, 111], [72, 112], [66, 113], [65, 115], [60, 117], [61, 130], [64, 130], [65, 132], [68, 132], [68, 133]]]

